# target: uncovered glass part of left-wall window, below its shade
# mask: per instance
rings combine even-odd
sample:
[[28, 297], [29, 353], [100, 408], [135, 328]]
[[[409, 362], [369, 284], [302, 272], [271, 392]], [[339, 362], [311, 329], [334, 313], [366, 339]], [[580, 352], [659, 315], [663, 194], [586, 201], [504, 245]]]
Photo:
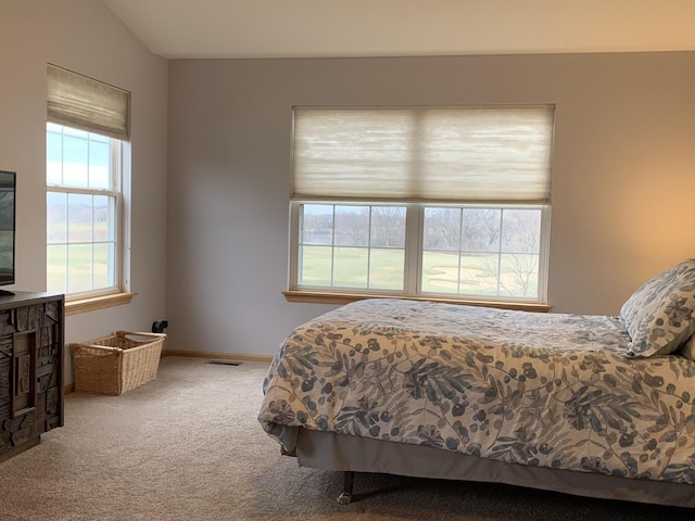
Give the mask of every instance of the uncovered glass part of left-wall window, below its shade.
[[121, 289], [122, 142], [47, 124], [48, 290]]

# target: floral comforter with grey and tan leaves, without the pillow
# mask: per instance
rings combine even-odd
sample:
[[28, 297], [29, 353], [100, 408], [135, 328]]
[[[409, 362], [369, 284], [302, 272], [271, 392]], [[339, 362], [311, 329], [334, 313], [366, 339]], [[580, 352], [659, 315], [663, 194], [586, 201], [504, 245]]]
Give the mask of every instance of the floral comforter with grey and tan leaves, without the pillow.
[[367, 300], [295, 329], [258, 419], [521, 465], [695, 483], [695, 363], [618, 318]]

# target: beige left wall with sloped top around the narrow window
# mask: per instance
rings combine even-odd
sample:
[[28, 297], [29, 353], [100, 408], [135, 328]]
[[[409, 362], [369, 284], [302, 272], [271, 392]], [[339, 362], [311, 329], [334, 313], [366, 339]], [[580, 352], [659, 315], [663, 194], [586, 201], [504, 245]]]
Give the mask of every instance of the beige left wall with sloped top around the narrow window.
[[167, 62], [101, 2], [0, 1], [0, 169], [17, 173], [17, 291], [46, 289], [47, 62], [132, 93], [131, 285], [138, 295], [127, 306], [68, 317], [66, 341], [149, 330], [165, 314]]

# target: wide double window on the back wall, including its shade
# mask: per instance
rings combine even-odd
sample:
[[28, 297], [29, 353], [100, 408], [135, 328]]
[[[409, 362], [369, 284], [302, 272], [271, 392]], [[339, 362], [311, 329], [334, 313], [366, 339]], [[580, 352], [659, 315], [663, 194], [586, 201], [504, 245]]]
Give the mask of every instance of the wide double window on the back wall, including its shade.
[[553, 113], [296, 107], [290, 290], [545, 303]]

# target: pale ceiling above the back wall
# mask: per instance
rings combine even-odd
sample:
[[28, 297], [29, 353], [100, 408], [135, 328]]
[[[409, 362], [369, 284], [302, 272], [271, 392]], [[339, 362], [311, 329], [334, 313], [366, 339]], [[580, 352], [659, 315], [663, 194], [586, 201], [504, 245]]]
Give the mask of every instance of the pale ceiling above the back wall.
[[102, 1], [168, 59], [695, 50], [695, 0]]

